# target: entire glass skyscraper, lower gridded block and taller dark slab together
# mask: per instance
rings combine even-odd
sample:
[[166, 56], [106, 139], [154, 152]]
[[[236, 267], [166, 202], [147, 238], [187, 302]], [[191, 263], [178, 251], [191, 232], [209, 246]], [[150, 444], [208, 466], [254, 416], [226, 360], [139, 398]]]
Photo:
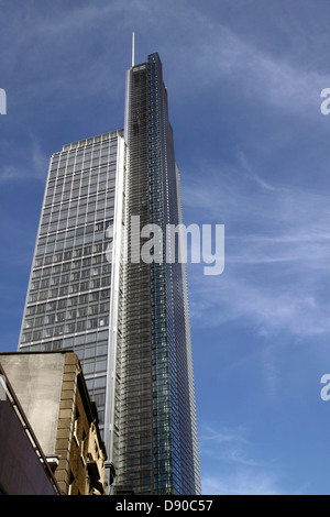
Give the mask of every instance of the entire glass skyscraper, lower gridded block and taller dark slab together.
[[20, 337], [78, 354], [117, 484], [135, 494], [200, 493], [182, 222], [152, 54], [128, 70], [124, 130], [52, 156]]

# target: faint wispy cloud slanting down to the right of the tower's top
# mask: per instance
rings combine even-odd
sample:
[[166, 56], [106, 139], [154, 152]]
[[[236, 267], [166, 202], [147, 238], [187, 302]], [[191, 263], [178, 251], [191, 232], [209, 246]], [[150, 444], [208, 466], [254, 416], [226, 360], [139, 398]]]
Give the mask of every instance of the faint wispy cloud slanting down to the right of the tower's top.
[[254, 98], [260, 107], [270, 103], [301, 117], [310, 117], [311, 112], [319, 116], [320, 92], [330, 84], [327, 69], [304, 69], [297, 66], [295, 56], [290, 59], [289, 53], [285, 57], [271, 55], [229, 26], [210, 20], [208, 23], [209, 37], [196, 47], [195, 54], [205, 86], [229, 79], [235, 86], [240, 84], [241, 103]]

